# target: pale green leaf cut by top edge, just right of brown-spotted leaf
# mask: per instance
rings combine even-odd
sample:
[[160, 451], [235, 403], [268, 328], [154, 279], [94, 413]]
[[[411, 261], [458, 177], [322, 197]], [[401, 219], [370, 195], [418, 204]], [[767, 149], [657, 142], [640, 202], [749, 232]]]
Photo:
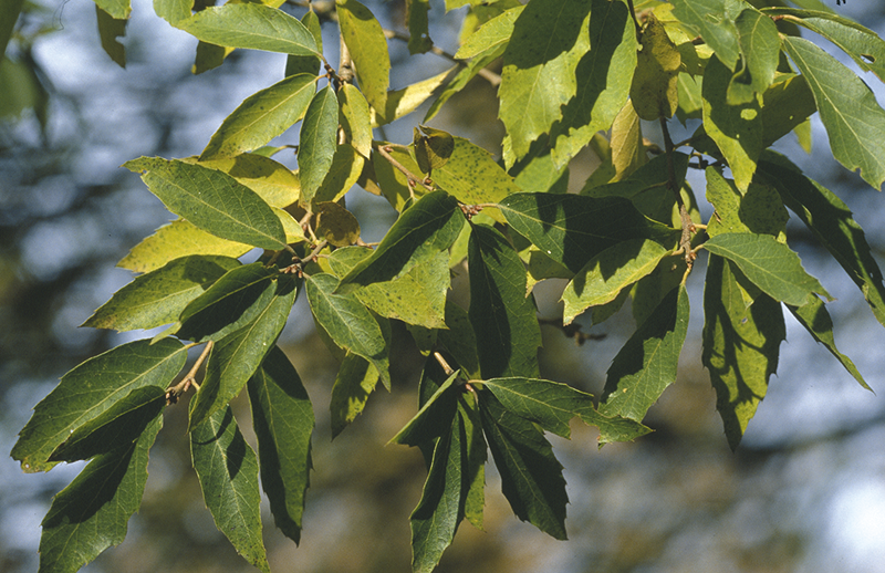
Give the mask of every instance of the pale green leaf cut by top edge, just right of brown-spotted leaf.
[[740, 0], [673, 0], [673, 13], [696, 31], [719, 60], [733, 71], [740, 58], [735, 20], [747, 3]]

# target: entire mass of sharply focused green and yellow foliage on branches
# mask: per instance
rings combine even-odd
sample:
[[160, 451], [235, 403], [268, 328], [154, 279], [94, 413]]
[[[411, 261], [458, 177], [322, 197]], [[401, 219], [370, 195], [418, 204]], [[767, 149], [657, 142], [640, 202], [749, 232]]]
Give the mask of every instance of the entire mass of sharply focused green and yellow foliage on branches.
[[[430, 38], [429, 0], [405, 1], [407, 34], [356, 0], [155, 1], [199, 40], [195, 72], [235, 50], [287, 54], [287, 64], [268, 70], [275, 83], [243, 100], [199, 155], [124, 165], [177, 219], [119, 261], [137, 277], [84, 325], [160, 330], [65, 374], [20, 433], [12, 456], [27, 472], [90, 460], [43, 519], [41, 571], [76, 571], [123, 541], [164, 411], [185, 398], [206, 506], [238, 553], [269, 571], [261, 492], [299, 542], [313, 408], [329, 408], [339, 435], [378, 383], [391, 390], [398, 325], [426, 357], [415, 416], [391, 438], [427, 466], [409, 518], [414, 571], [436, 567], [464, 520], [482, 528], [488, 463], [519, 519], [566, 539], [563, 468], [545, 433], [569, 438], [579, 418], [603, 447], [653, 430], [644, 420], [676, 381], [698, 257], [701, 363], [732, 449], [777, 372], [784, 311], [870, 389], [835, 345], [833, 299], [788, 243], [788, 221], [808, 228], [885, 325], [882, 272], [845, 202], [772, 145], [794, 134], [809, 148], [820, 112], [833, 157], [881, 189], [885, 111], [805, 35], [829, 40], [871, 81], [885, 81], [885, 42], [818, 0], [792, 3], [446, 0], [464, 9], [448, 54]], [[2, 50], [22, 6], [0, 4]], [[125, 66], [128, 0], [96, 0], [96, 14], [102, 46]], [[340, 38], [337, 62], [324, 29]], [[452, 67], [393, 88], [394, 41]], [[500, 149], [429, 125], [476, 76], [498, 90]], [[412, 140], [386, 140], [384, 126], [400, 118]], [[674, 142], [676, 122], [694, 133]], [[649, 128], [663, 145], [644, 137]], [[273, 144], [281, 136], [292, 143]], [[295, 170], [274, 159], [293, 147]], [[574, 185], [570, 164], [587, 149], [598, 166]], [[689, 170], [702, 173], [702, 196]], [[354, 188], [396, 212], [376, 244], [348, 210]], [[700, 201], [715, 209], [707, 220]], [[449, 295], [452, 275], [469, 284], [466, 308]], [[629, 300], [635, 332], [598, 397], [543, 377], [533, 289], [548, 279], [564, 283], [556, 326], [579, 340]], [[327, 405], [311, 403], [277, 345], [299, 294], [340, 361]], [[242, 394], [250, 420], [230, 407]]]

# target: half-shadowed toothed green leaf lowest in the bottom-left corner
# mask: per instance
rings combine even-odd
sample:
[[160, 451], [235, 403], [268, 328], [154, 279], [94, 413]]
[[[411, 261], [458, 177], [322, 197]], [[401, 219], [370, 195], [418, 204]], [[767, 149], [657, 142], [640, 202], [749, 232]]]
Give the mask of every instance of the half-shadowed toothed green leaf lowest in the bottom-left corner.
[[126, 538], [162, 426], [163, 417], [154, 418], [137, 441], [98, 456], [55, 496], [41, 523], [40, 573], [74, 573]]

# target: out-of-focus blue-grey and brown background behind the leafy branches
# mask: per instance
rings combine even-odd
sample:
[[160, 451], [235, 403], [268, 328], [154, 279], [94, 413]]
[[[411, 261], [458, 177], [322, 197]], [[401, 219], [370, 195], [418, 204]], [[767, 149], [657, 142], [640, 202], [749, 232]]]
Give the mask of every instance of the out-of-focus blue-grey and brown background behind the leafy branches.
[[[123, 41], [126, 70], [101, 50], [87, 0], [27, 2], [0, 64], [0, 446], [7, 452], [31, 407], [59, 376], [103, 350], [150, 335], [77, 329], [132, 279], [116, 262], [170, 218], [137, 176], [118, 166], [140, 155], [199, 153], [246, 96], [283, 74], [284, 56], [240, 50], [220, 69], [194, 75], [196, 40], [156, 18], [147, 0], [133, 3]], [[402, 0], [366, 3], [386, 28], [404, 31]], [[445, 14], [441, 0], [430, 4], [431, 38], [454, 53], [465, 11]], [[882, 1], [843, 8], [879, 34], [885, 30]], [[304, 11], [287, 9], [296, 15]], [[334, 62], [337, 30], [334, 24], [323, 30]], [[394, 88], [450, 65], [434, 54], [409, 58], [405, 42], [395, 39], [389, 45]], [[383, 136], [408, 143], [423, 110], [388, 126]], [[503, 132], [497, 111], [494, 88], [476, 79], [433, 125], [498, 153]], [[655, 126], [645, 127], [655, 140]], [[882, 196], [835, 165], [819, 127], [814, 145], [820, 153], [805, 156], [794, 142], [782, 144], [782, 150], [852, 207], [882, 264]], [[292, 137], [275, 143], [296, 144]], [[678, 132], [674, 137], [680, 138]], [[293, 157], [283, 160], [294, 167]], [[579, 156], [571, 185], [580, 188], [594, 167], [592, 153]], [[695, 180], [696, 190], [701, 181]], [[377, 240], [395, 215], [360, 190], [348, 195], [347, 205], [367, 241]], [[800, 227], [789, 232], [809, 271], [839, 298], [830, 309], [840, 346], [871, 386], [882, 388], [882, 329], [866, 317], [853, 285], [827, 282], [839, 272], [829, 272], [833, 269], [816, 254], [812, 238]], [[602, 450], [594, 430], [579, 423], [571, 441], [551, 438], [569, 482], [571, 540], [558, 542], [519, 522], [489, 466], [487, 531], [464, 524], [439, 571], [882, 571], [885, 403], [858, 388], [801, 329], [788, 325], [779, 375], [731, 454], [700, 367], [702, 284], [697, 277], [702, 272], [689, 280], [696, 316], [679, 379], [646, 420], [655, 433]], [[454, 295], [461, 295], [455, 284]], [[551, 281], [539, 286], [542, 317], [558, 316], [562, 286]], [[544, 327], [543, 375], [598, 394], [612, 356], [632, 333], [629, 316], [627, 309], [622, 320], [591, 329], [601, 338], [582, 345]], [[414, 415], [420, 356], [405, 330], [396, 331], [394, 354], [402, 360], [394, 363], [393, 392], [373, 396], [361, 418], [332, 441], [326, 404], [336, 364], [315, 336], [303, 298], [281, 342], [314, 403], [317, 429], [301, 546], [268, 529], [271, 566], [278, 572], [408, 571], [408, 515], [425, 467], [417, 450], [384, 445]], [[243, 402], [235, 407], [248, 416]], [[185, 406], [168, 408], [165, 425], [128, 538], [84, 571], [251, 569], [204, 508], [190, 470]], [[0, 462], [0, 571], [35, 570], [39, 521], [80, 467], [25, 476], [11, 458]]]

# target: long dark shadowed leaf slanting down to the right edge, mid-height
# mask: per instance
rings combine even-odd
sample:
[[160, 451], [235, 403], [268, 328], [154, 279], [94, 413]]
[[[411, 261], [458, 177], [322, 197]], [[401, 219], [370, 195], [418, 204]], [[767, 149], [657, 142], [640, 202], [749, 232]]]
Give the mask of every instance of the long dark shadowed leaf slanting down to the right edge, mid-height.
[[764, 180], [780, 192], [783, 202], [808, 226], [833, 258], [845, 269], [885, 325], [885, 286], [864, 231], [848, 206], [835, 194], [804, 175], [768, 160], [759, 164]]

